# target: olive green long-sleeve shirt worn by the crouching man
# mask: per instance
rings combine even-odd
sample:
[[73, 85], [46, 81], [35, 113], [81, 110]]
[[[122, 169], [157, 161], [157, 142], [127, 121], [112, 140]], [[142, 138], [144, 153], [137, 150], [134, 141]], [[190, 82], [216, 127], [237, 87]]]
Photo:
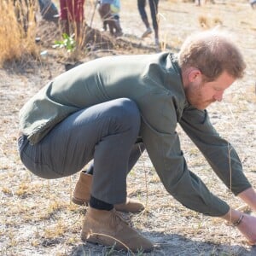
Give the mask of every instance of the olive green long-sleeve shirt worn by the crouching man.
[[142, 116], [140, 136], [167, 191], [185, 207], [221, 216], [229, 206], [190, 172], [180, 148], [177, 123], [201, 150], [218, 177], [235, 195], [251, 187], [236, 151], [219, 137], [207, 111], [187, 102], [175, 55], [112, 56], [62, 73], [20, 110], [20, 130], [38, 143], [67, 115], [101, 102], [126, 97]]

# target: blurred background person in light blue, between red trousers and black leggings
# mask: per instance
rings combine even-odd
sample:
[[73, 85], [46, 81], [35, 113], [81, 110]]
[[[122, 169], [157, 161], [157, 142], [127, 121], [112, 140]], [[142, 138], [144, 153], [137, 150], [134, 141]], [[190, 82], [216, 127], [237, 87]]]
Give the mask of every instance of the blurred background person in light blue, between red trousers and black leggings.
[[107, 28], [109, 28], [109, 32], [113, 36], [122, 36], [123, 32], [119, 20], [120, 1], [100, 0], [99, 3], [98, 11], [103, 21], [103, 31], [107, 31]]

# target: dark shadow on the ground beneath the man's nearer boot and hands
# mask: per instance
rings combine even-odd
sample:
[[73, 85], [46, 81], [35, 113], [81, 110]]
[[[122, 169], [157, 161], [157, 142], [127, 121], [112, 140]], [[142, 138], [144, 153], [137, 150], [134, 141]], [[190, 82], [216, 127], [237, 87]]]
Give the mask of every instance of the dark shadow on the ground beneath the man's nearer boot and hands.
[[[151, 241], [154, 242], [155, 247], [152, 253], [143, 253], [143, 255], [236, 255], [236, 256], [255, 256], [256, 247], [246, 249], [241, 246], [230, 246], [229, 244], [216, 244], [207, 241], [194, 241], [184, 236], [177, 234], [163, 235], [159, 232], [144, 233], [144, 236], [150, 236]], [[142, 255], [142, 253], [131, 253], [124, 251], [115, 251], [111, 247], [102, 247], [91, 243], [79, 244], [73, 247], [70, 256], [87, 256], [87, 255], [111, 255], [111, 256], [125, 256], [125, 255]]]

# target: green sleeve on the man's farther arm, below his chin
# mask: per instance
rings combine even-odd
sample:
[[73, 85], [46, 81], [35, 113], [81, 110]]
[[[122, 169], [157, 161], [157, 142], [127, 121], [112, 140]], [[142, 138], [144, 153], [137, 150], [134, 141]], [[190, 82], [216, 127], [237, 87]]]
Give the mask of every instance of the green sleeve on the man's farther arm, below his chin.
[[215, 131], [207, 110], [190, 107], [183, 112], [179, 123], [201, 150], [212, 170], [235, 195], [251, 187], [242, 172], [241, 160], [235, 148]]

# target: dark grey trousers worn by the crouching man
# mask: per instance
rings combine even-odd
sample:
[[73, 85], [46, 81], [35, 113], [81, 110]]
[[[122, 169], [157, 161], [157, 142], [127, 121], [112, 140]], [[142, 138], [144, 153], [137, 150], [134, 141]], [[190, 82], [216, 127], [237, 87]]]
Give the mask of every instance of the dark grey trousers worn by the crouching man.
[[91, 195], [118, 204], [126, 199], [126, 175], [144, 150], [136, 143], [140, 112], [121, 98], [69, 115], [32, 145], [19, 138], [20, 159], [39, 177], [67, 177], [94, 160]]

